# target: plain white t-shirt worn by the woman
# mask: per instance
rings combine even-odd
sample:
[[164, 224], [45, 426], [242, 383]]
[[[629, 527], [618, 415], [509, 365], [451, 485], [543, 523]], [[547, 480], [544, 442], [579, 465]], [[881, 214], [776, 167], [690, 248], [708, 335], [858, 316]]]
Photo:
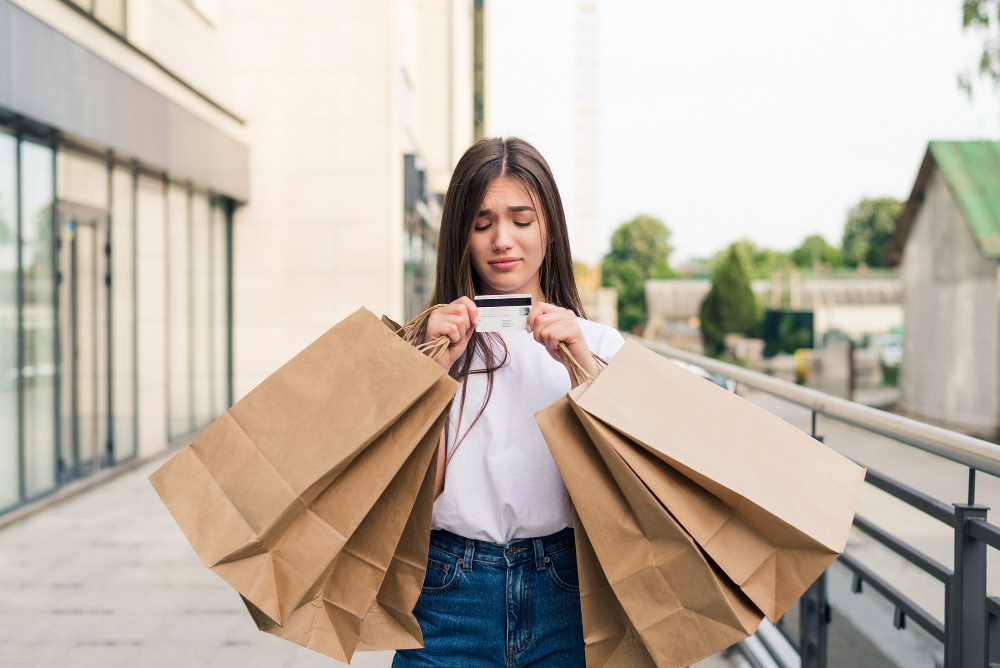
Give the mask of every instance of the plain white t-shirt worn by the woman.
[[[587, 347], [605, 360], [625, 344], [612, 327], [583, 318], [577, 321]], [[507, 344], [508, 363], [494, 374], [490, 401], [471, 431], [469, 425], [486, 396], [486, 374], [472, 374], [466, 380], [465, 410], [457, 433], [461, 388], [452, 402], [448, 453], [458, 437], [464, 439], [448, 463], [431, 526], [503, 544], [573, 526], [566, 486], [535, 422], [535, 412], [569, 392], [571, 383], [566, 367], [531, 334], [499, 334]], [[494, 354], [498, 364], [503, 359], [499, 344]], [[477, 355], [472, 368], [484, 366]]]

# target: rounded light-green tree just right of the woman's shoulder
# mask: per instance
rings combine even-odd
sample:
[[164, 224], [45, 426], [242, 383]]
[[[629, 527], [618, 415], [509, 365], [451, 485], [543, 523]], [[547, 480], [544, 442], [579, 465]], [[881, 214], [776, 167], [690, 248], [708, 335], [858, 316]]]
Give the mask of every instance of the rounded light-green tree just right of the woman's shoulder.
[[637, 216], [611, 235], [601, 284], [618, 290], [618, 328], [632, 331], [646, 322], [646, 280], [674, 278], [668, 258], [670, 230], [659, 218]]

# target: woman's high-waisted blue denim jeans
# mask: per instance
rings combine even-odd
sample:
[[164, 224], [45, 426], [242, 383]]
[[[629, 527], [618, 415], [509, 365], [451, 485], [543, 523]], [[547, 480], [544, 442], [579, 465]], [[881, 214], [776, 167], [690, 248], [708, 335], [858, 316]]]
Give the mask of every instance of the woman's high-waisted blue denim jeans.
[[583, 668], [573, 529], [506, 545], [431, 531], [413, 614], [424, 647], [393, 668]]

